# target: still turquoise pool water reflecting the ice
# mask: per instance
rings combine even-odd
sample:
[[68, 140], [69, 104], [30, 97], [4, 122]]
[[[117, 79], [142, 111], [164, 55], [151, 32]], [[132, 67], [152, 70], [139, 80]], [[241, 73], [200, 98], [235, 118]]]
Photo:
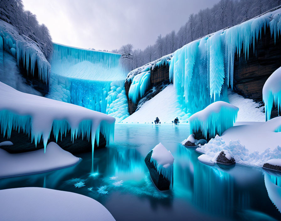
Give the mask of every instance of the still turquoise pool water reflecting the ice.
[[[75, 166], [2, 179], [0, 189], [38, 186], [76, 192], [101, 202], [116, 220], [281, 219], [273, 204], [281, 196], [271, 189], [275, 194], [271, 201], [264, 170], [202, 164], [194, 148], [179, 144], [188, 135], [188, 124], [116, 124], [114, 143], [95, 151], [94, 173], [91, 153], [79, 154], [83, 160]], [[165, 192], [156, 190], [144, 163], [146, 154], [159, 142], [175, 158], [174, 186]], [[268, 176], [280, 188], [280, 176]], [[85, 186], [75, 188], [77, 182]]]

